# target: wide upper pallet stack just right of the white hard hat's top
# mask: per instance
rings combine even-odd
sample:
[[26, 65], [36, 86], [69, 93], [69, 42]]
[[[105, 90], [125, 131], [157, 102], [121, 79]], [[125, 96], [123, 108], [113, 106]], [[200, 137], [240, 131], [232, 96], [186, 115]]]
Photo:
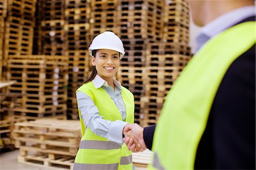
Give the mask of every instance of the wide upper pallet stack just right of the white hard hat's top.
[[118, 1], [118, 22], [122, 39], [160, 40], [163, 1]]

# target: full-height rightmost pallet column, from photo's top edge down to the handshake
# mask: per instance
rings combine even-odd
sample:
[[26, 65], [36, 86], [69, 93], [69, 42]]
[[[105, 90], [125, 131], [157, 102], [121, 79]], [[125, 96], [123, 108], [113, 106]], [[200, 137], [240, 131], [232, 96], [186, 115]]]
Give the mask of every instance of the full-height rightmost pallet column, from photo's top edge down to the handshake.
[[143, 126], [158, 121], [168, 91], [191, 59], [187, 2], [167, 0], [163, 18], [163, 39], [147, 48]]

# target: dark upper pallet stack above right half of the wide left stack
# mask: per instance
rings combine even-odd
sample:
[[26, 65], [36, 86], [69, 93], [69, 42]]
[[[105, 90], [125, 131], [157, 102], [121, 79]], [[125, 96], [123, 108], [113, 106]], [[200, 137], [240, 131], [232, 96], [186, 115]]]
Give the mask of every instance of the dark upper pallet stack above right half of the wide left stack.
[[42, 54], [65, 56], [63, 0], [41, 0]]

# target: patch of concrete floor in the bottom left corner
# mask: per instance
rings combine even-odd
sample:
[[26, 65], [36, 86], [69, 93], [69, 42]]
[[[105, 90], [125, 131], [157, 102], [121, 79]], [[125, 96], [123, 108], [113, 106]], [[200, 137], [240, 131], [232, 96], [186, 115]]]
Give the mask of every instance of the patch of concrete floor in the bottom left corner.
[[5, 152], [0, 155], [1, 170], [50, 170], [49, 168], [40, 168], [34, 165], [18, 163], [19, 150]]

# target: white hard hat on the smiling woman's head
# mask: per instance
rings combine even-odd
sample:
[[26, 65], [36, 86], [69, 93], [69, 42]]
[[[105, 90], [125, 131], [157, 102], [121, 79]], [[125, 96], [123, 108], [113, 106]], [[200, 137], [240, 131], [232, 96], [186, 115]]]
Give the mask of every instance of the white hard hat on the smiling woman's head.
[[94, 49], [112, 49], [120, 52], [120, 59], [125, 55], [125, 48], [123, 48], [122, 40], [111, 31], [105, 31], [93, 39], [93, 42], [88, 49], [90, 56], [92, 56], [92, 51]]

